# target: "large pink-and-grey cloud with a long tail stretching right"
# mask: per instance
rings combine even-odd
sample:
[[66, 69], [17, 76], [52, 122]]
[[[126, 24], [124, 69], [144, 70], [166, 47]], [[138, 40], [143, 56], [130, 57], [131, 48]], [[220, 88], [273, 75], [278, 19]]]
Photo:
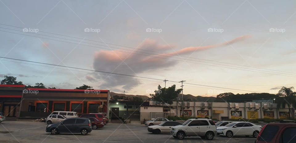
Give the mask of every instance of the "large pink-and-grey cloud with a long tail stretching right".
[[[186, 55], [194, 51], [226, 46], [228, 44], [233, 44], [233, 43], [245, 40], [246, 38], [249, 38], [249, 37], [250, 36], [245, 35], [245, 36], [237, 37], [231, 41], [227, 41], [220, 44], [213, 44], [213, 45], [200, 46], [200, 47], [187, 47], [187, 48], [182, 48], [176, 52], [167, 52], [168, 50], [171, 49], [169, 45], [161, 45], [161, 44], [158, 44], [156, 41], [147, 39], [139, 46], [139, 49], [165, 52], [165, 53], [174, 54], [174, 55], [176, 54]], [[138, 53], [138, 52], [135, 52], [135, 53]], [[147, 53], [157, 54], [155, 52], [147, 52]], [[113, 73], [120, 73], [120, 74], [127, 74], [127, 75], [137, 75], [145, 71], [151, 71], [151, 70], [161, 71], [163, 69], [168, 69], [175, 66], [178, 62], [175, 60], [167, 60], [162, 58], [150, 57], [150, 56], [155, 56], [153, 54], [145, 54], [145, 53], [140, 53], [140, 54], [147, 55], [147, 57], [136, 55], [136, 54], [125, 53], [125, 52], [112, 51], [112, 50], [111, 51], [101, 50], [101, 51], [95, 52], [94, 54], [93, 67], [95, 70], [98, 70], [98, 71], [113, 72]], [[158, 56], [163, 57], [163, 55], [173, 56], [173, 55], [167, 55], [167, 54], [159, 54]], [[168, 57], [163, 57], [163, 58], [168, 58]], [[120, 78], [120, 77], [114, 77], [114, 76], [107, 77], [105, 75], [97, 75], [96, 78], [98, 79], [98, 81], [102, 81], [102, 84], [99, 85], [101, 89], [122, 88], [123, 90], [130, 90], [134, 87], [137, 87], [139, 84], [141, 84], [139, 80], [129, 79], [131, 77]], [[92, 80], [92, 78], [88, 77], [88, 80], [90, 79]]]

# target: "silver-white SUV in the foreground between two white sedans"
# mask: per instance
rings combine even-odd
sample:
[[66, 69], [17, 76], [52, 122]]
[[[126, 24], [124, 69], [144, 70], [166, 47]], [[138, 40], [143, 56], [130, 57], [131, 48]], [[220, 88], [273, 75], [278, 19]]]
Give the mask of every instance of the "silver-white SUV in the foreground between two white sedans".
[[171, 129], [171, 135], [179, 140], [190, 136], [200, 136], [212, 140], [216, 134], [217, 129], [214, 121], [206, 118], [188, 119], [183, 124]]

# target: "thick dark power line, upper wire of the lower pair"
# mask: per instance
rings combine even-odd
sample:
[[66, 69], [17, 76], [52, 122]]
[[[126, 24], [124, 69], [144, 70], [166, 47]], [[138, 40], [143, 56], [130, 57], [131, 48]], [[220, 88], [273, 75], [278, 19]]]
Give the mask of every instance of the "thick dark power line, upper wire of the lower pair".
[[[74, 69], [80, 69], [80, 70], [86, 70], [86, 71], [92, 71], [92, 72], [102, 72], [102, 73], [109, 73], [109, 74], [115, 74], [115, 75], [125, 75], [125, 76], [131, 76], [131, 77], [138, 77], [138, 78], [145, 78], [145, 79], [154, 79], [154, 80], [161, 80], [163, 79], [155, 79], [155, 78], [149, 78], [149, 77], [143, 77], [143, 76], [135, 76], [135, 75], [126, 75], [126, 74], [119, 74], [119, 73], [112, 73], [112, 72], [103, 72], [103, 71], [97, 71], [97, 70], [90, 70], [90, 69], [84, 69], [84, 68], [76, 68], [76, 67], [69, 67], [69, 66], [62, 66], [62, 65], [56, 65], [56, 64], [48, 64], [48, 63], [41, 63], [41, 62], [35, 62], [35, 61], [29, 61], [29, 60], [20, 60], [20, 59], [14, 59], [14, 58], [7, 58], [7, 57], [1, 57], [4, 59], [10, 59], [10, 60], [19, 60], [19, 61], [25, 61], [25, 62], [31, 62], [31, 63], [38, 63], [38, 64], [46, 64], [46, 65], [52, 65], [52, 66], [59, 66], [64, 68], [74, 68]], [[176, 82], [176, 81], [171, 81]], [[176, 82], [178, 83], [178, 82]], [[205, 86], [205, 87], [214, 87], [214, 86], [208, 86], [208, 85], [201, 85], [201, 84], [193, 84], [193, 83], [186, 83], [186, 84], [192, 84], [192, 85], [198, 85], [198, 86]], [[240, 90], [240, 89], [232, 89], [232, 88], [224, 88], [224, 87], [216, 87], [216, 88], [223, 88], [223, 89], [231, 89], [231, 90], [238, 90], [238, 91], [248, 91], [248, 90]], [[258, 92], [258, 91], [249, 91], [249, 92]], [[258, 92], [262, 93], [262, 92]]]

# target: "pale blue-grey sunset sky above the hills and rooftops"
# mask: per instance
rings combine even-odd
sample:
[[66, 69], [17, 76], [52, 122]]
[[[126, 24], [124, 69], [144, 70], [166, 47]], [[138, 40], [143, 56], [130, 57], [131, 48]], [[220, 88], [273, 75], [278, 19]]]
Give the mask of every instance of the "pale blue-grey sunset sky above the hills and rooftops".
[[295, 5], [0, 0], [1, 57], [92, 70], [0, 58], [0, 79], [10, 75], [26, 85], [65, 89], [86, 84], [132, 95], [149, 95], [165, 86], [164, 79], [166, 87], [177, 88], [185, 80], [183, 93], [194, 96], [277, 93], [296, 87]]

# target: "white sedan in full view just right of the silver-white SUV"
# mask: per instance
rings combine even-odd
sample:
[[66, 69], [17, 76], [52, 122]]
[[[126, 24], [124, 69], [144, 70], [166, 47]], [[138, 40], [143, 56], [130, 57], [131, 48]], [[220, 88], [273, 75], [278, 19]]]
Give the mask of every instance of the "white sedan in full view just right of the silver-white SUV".
[[220, 136], [253, 136], [257, 137], [262, 127], [249, 122], [232, 122], [225, 126], [217, 127]]

